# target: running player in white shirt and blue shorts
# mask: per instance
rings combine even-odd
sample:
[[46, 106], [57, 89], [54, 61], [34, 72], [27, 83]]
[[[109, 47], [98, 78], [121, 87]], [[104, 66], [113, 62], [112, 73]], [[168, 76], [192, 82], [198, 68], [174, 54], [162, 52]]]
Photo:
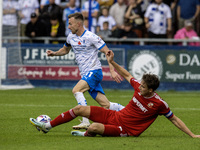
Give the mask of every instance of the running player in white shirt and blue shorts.
[[[62, 56], [69, 53], [73, 48], [76, 62], [79, 66], [81, 80], [75, 85], [72, 92], [79, 105], [86, 106], [87, 101], [83, 95], [88, 91], [93, 99], [95, 99], [102, 107], [119, 111], [124, 106], [118, 103], [109, 102], [100, 85], [103, 79], [101, 62], [98, 59], [98, 52], [107, 53], [109, 51], [105, 42], [96, 34], [87, 31], [83, 27], [84, 17], [81, 13], [74, 13], [68, 16], [69, 26], [71, 30], [66, 43], [58, 51], [47, 50], [48, 56]], [[107, 56], [106, 56], [107, 57]], [[117, 82], [121, 82], [121, 77], [114, 71], [114, 67], [109, 63], [112, 78]], [[83, 117], [81, 124], [73, 126], [74, 129], [87, 129], [90, 123], [87, 118]]]

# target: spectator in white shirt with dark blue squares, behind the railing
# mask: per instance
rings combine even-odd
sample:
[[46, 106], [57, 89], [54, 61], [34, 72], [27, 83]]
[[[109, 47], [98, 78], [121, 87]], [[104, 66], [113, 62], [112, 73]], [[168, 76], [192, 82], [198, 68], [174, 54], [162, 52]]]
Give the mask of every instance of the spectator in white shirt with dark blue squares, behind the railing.
[[[167, 38], [167, 31], [171, 32], [171, 10], [162, 0], [155, 0], [155, 3], [147, 7], [145, 13], [145, 26], [148, 29], [149, 38]], [[152, 43], [159, 44], [159, 43]]]

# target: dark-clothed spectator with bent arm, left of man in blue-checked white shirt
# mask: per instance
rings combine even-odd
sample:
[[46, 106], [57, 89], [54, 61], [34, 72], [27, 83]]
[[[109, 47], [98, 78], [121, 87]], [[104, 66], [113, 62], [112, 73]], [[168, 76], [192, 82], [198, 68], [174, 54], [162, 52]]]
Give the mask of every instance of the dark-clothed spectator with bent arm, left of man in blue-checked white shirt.
[[132, 23], [133, 31], [138, 37], [142, 37], [143, 33], [143, 14], [141, 5], [137, 4], [137, 0], [129, 0], [129, 6], [126, 9], [125, 18], [128, 22]]

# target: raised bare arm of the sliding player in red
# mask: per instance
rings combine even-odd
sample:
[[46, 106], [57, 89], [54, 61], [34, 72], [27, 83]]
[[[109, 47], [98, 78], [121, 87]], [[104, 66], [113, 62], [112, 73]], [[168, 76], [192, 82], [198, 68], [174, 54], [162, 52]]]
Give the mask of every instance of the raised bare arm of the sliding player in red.
[[106, 54], [108, 62], [110, 64], [112, 64], [112, 66], [117, 70], [117, 72], [124, 77], [124, 79], [126, 79], [129, 83], [130, 83], [130, 79], [133, 78], [133, 76], [123, 67], [121, 67], [120, 65], [118, 65], [114, 60], [114, 53], [113, 51], [109, 50]]

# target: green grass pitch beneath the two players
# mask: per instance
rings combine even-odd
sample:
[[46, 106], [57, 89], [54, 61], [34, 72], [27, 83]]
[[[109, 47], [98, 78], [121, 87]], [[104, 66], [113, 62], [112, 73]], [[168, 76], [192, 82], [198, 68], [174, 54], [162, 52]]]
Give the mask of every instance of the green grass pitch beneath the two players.
[[[105, 90], [110, 101], [126, 105], [131, 90]], [[200, 92], [158, 92], [195, 134], [200, 134]], [[85, 93], [88, 105], [98, 105]], [[76, 106], [71, 90], [29, 89], [0, 91], [0, 150], [199, 150], [200, 139], [192, 139], [164, 116], [140, 137], [73, 137], [72, 126], [79, 118], [52, 129], [38, 132], [29, 122], [47, 114], [52, 119]]]

